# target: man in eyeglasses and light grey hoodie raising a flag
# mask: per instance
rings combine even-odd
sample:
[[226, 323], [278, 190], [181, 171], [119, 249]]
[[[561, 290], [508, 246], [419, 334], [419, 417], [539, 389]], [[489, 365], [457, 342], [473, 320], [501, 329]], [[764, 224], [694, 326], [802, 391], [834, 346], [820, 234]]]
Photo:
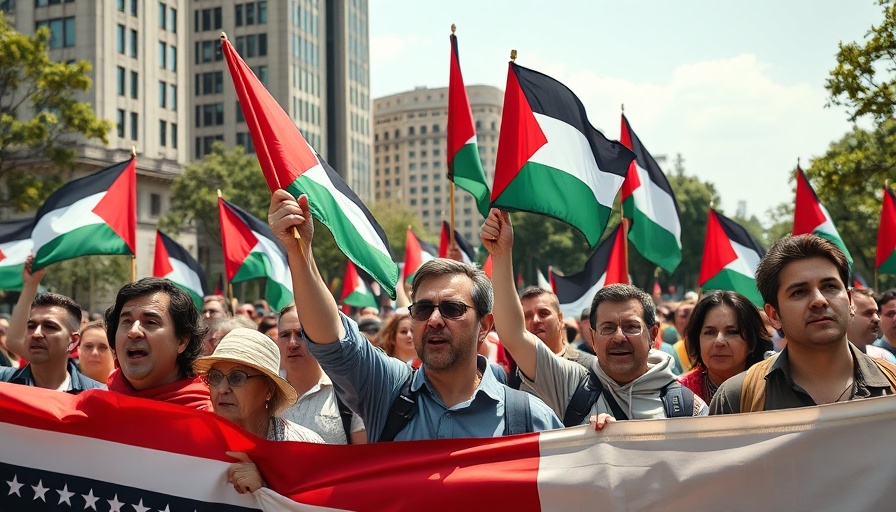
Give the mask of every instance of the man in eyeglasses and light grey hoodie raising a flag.
[[650, 348], [659, 326], [649, 295], [622, 284], [597, 292], [591, 305], [597, 360], [586, 368], [558, 357], [526, 329], [514, 293], [510, 215], [492, 209], [481, 238], [492, 255], [498, 337], [519, 366], [523, 389], [544, 400], [564, 425], [585, 425], [602, 414], [617, 420], [707, 414], [706, 404], [675, 380], [672, 357]]

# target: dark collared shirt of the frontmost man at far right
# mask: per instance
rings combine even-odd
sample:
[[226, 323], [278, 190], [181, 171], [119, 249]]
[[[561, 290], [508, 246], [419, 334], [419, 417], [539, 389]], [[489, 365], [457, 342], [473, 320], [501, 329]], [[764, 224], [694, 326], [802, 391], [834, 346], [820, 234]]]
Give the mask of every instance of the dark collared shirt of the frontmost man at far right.
[[[854, 361], [854, 383], [852, 392], [845, 395], [849, 400], [891, 395], [890, 381], [874, 362], [874, 359], [849, 344]], [[815, 400], [793, 381], [790, 373], [790, 358], [787, 347], [778, 353], [765, 375], [765, 410], [793, 409], [818, 405]], [[737, 414], [740, 412], [740, 396], [747, 373], [742, 372], [726, 380], [719, 386], [709, 404], [710, 414]]]

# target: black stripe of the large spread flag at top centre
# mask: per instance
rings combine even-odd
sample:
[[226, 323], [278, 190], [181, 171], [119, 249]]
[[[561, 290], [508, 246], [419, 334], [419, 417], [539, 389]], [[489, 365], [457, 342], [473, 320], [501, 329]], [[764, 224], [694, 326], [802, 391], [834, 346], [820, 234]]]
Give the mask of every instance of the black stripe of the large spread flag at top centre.
[[532, 112], [553, 117], [585, 135], [597, 167], [623, 178], [635, 155], [619, 141], [607, 139], [588, 121], [585, 106], [569, 87], [538, 71], [510, 64]]

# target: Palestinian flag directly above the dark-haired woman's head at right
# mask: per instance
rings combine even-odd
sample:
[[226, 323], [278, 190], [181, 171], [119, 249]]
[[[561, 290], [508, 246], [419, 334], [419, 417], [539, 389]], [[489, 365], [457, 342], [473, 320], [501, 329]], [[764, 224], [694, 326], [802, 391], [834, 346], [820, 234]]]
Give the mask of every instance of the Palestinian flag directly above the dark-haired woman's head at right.
[[763, 256], [765, 249], [746, 228], [709, 210], [699, 280], [704, 291], [730, 290], [762, 307], [765, 301], [756, 289], [755, 276]]

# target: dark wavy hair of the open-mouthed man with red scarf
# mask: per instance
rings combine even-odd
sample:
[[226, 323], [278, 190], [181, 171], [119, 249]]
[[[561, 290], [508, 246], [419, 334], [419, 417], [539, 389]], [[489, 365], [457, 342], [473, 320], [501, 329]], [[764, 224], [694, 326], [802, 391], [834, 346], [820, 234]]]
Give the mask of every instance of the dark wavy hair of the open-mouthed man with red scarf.
[[153, 293], [168, 294], [168, 315], [174, 322], [174, 335], [180, 338], [189, 338], [187, 348], [177, 356], [177, 366], [185, 377], [192, 377], [193, 361], [202, 354], [202, 339], [208, 328], [199, 318], [199, 310], [193, 303], [192, 297], [167, 279], [157, 277], [144, 277], [136, 283], [128, 283], [118, 290], [115, 304], [106, 310], [106, 338], [109, 346], [115, 349], [115, 333], [118, 331], [118, 322], [121, 317], [121, 309], [124, 304], [137, 297], [151, 295]]

